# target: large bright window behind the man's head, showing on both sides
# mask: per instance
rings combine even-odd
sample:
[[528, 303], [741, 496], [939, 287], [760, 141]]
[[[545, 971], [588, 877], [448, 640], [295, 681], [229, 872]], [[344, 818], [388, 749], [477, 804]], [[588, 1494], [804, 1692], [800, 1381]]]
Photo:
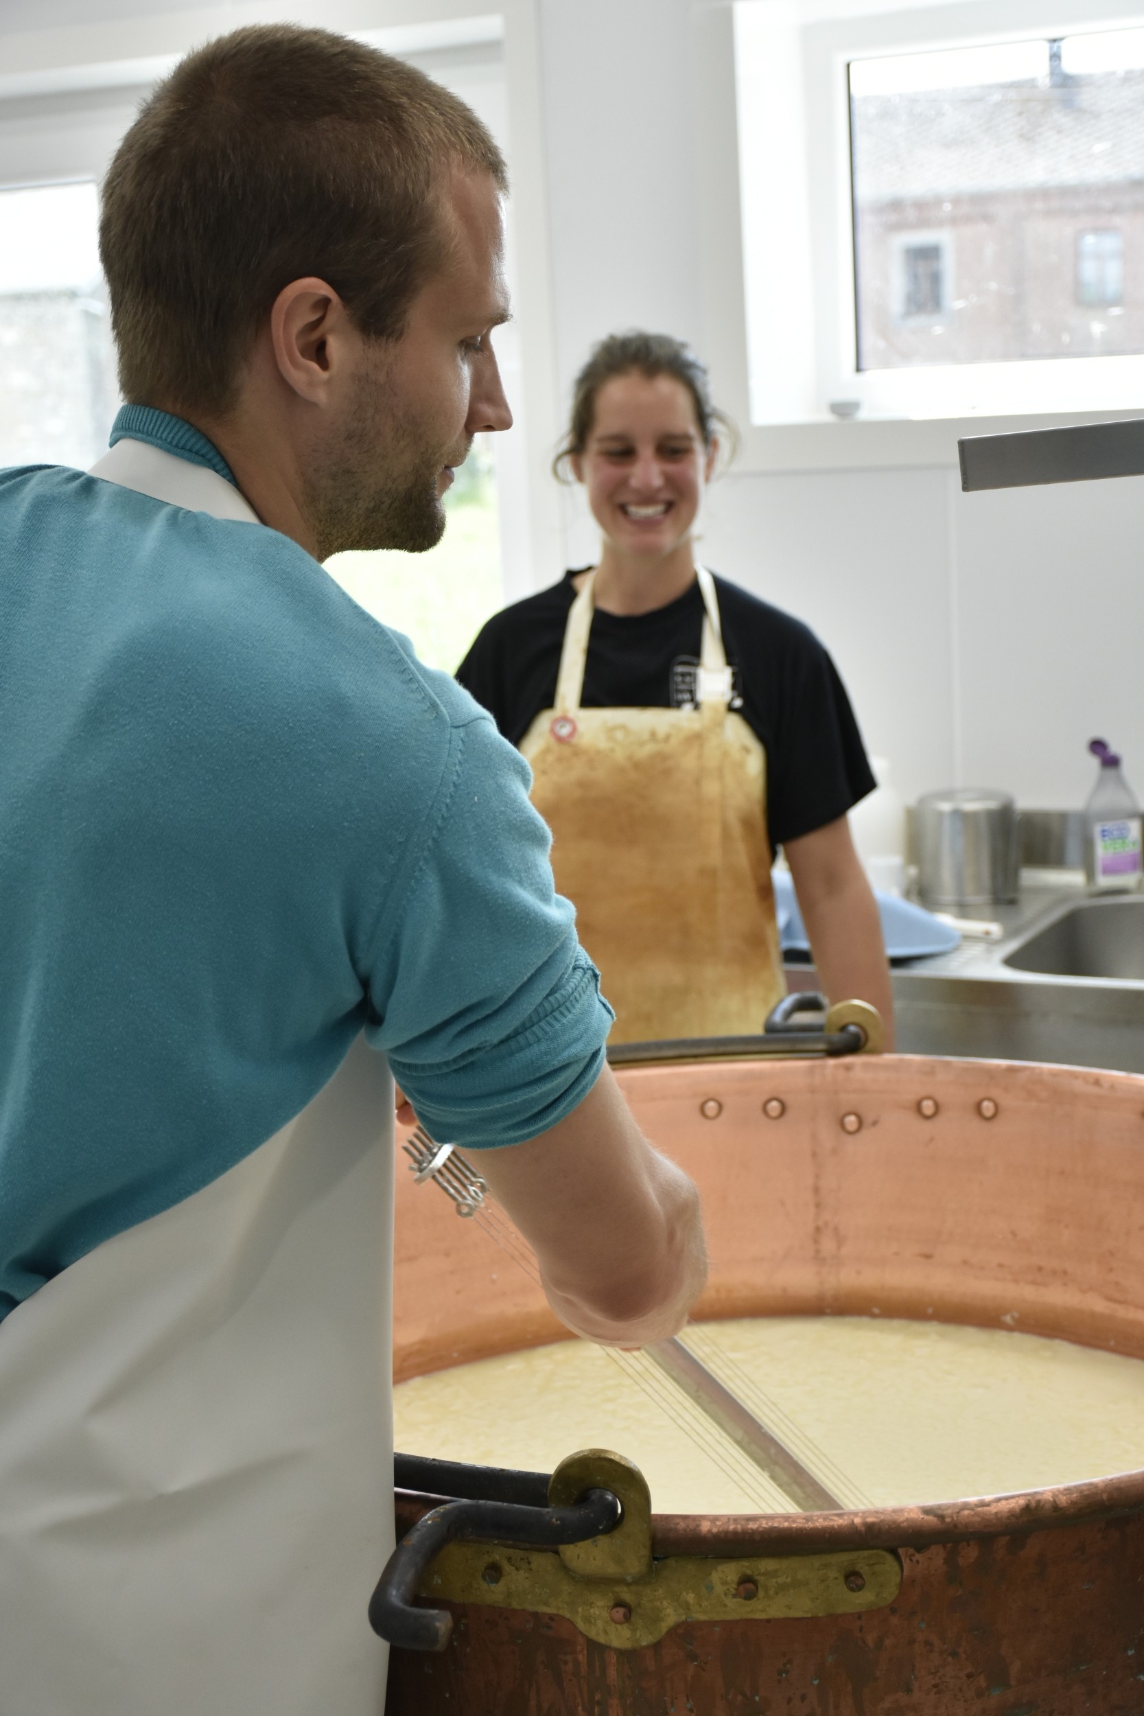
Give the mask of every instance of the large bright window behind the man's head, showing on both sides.
[[[364, 39], [418, 63], [508, 142], [499, 14], [365, 31]], [[98, 259], [96, 182], [139, 100], [173, 62], [175, 55], [120, 60], [110, 53], [106, 65], [89, 69], [91, 82], [69, 67], [58, 82], [48, 70], [14, 82], [0, 74], [0, 465], [84, 468], [106, 451], [118, 391]], [[511, 280], [511, 209], [508, 240]], [[499, 331], [497, 352], [516, 402], [516, 328]], [[506, 570], [511, 587], [532, 587], [520, 438], [520, 431], [497, 438], [515, 444], [497, 446], [496, 458], [492, 446], [477, 443], [446, 496], [448, 532], [431, 553], [341, 554], [329, 563], [355, 601], [408, 633], [431, 666], [456, 668], [482, 621], [503, 606]]]

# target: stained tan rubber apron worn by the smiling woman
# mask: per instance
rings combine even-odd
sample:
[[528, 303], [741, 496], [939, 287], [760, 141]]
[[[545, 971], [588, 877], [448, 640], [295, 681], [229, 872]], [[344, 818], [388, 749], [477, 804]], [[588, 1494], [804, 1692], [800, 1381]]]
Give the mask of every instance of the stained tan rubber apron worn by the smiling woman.
[[760, 1031], [786, 994], [767, 755], [731, 705], [715, 582], [691, 709], [583, 709], [590, 573], [568, 614], [556, 707], [528, 728], [556, 885], [616, 1007], [612, 1042]]

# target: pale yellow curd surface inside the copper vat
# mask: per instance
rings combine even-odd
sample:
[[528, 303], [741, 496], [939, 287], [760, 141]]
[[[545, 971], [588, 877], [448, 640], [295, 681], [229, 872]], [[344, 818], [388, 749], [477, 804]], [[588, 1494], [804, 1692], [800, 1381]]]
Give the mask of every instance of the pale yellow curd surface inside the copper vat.
[[[847, 1507], [1144, 1467], [1139, 1359], [861, 1316], [698, 1323], [683, 1338]], [[672, 1416], [655, 1404], [664, 1399]], [[641, 1467], [662, 1514], [794, 1512], [695, 1407], [667, 1395], [650, 1361], [616, 1363], [583, 1340], [401, 1383], [394, 1433], [406, 1453], [537, 1472], [576, 1448], [612, 1448]]]

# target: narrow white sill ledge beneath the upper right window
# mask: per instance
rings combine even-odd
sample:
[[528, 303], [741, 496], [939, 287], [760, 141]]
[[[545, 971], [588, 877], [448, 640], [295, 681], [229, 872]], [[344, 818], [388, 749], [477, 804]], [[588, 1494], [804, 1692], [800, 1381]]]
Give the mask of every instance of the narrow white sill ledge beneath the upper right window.
[[971, 434], [1058, 429], [1144, 417], [1144, 410], [1022, 412], [974, 417], [852, 417], [794, 424], [751, 424], [743, 431], [736, 472], [957, 470], [957, 443]]

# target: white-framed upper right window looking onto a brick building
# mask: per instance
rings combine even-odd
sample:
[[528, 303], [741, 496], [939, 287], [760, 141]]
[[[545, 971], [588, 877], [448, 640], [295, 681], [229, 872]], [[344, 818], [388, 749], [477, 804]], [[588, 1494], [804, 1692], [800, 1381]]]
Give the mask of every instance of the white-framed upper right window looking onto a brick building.
[[753, 422], [1139, 408], [1142, 14], [738, 0]]

